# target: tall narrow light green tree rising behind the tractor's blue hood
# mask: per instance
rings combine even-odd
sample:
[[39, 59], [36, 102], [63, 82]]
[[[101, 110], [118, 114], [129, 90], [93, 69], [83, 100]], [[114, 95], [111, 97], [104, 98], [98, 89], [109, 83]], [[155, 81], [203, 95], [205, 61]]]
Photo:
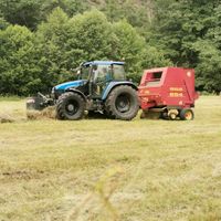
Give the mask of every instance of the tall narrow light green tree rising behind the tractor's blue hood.
[[41, 57], [43, 59], [44, 83], [52, 87], [62, 81], [63, 75], [69, 74], [71, 69], [69, 64], [69, 50], [66, 42], [69, 40], [69, 17], [61, 9], [56, 8], [42, 23], [36, 32], [36, 39], [40, 42]]

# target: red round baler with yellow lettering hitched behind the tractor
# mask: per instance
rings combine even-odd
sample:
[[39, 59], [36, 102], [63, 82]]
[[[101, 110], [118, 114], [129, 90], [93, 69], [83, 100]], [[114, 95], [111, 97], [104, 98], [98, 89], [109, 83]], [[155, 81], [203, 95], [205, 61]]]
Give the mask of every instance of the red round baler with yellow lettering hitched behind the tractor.
[[146, 70], [138, 87], [143, 117], [149, 112], [169, 119], [193, 119], [194, 70], [160, 67]]

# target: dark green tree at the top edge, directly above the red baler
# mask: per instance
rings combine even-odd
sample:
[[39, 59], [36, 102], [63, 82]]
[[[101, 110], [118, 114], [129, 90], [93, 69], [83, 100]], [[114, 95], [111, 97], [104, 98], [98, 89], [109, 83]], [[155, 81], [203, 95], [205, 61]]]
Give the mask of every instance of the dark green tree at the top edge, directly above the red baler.
[[211, 25], [214, 0], [169, 0], [164, 1], [164, 4], [162, 0], [157, 2], [154, 43], [158, 42], [173, 64], [196, 66], [198, 54], [192, 45], [198, 39], [206, 36]]

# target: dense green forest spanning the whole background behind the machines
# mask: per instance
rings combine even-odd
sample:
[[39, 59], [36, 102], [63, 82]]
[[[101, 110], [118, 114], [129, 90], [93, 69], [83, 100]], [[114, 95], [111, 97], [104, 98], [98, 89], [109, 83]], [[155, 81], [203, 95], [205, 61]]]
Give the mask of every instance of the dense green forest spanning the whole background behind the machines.
[[197, 90], [221, 91], [218, 0], [0, 0], [0, 94], [49, 92], [83, 61], [196, 70]]

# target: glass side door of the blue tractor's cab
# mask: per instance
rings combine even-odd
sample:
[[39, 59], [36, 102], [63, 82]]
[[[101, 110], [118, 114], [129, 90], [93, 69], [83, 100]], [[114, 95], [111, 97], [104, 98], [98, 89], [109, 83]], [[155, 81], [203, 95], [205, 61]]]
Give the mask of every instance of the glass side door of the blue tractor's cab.
[[104, 90], [113, 80], [112, 65], [96, 65], [92, 71], [92, 97], [101, 98]]

